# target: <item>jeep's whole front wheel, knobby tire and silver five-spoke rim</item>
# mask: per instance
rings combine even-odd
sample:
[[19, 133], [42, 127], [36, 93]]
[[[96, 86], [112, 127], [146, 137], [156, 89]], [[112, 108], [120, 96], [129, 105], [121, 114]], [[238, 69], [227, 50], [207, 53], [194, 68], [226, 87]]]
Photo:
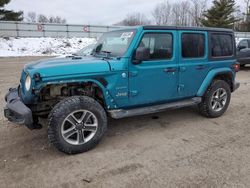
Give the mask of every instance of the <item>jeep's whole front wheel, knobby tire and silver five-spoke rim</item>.
[[94, 148], [106, 130], [105, 110], [90, 97], [66, 98], [49, 115], [49, 141], [68, 154], [82, 153]]

